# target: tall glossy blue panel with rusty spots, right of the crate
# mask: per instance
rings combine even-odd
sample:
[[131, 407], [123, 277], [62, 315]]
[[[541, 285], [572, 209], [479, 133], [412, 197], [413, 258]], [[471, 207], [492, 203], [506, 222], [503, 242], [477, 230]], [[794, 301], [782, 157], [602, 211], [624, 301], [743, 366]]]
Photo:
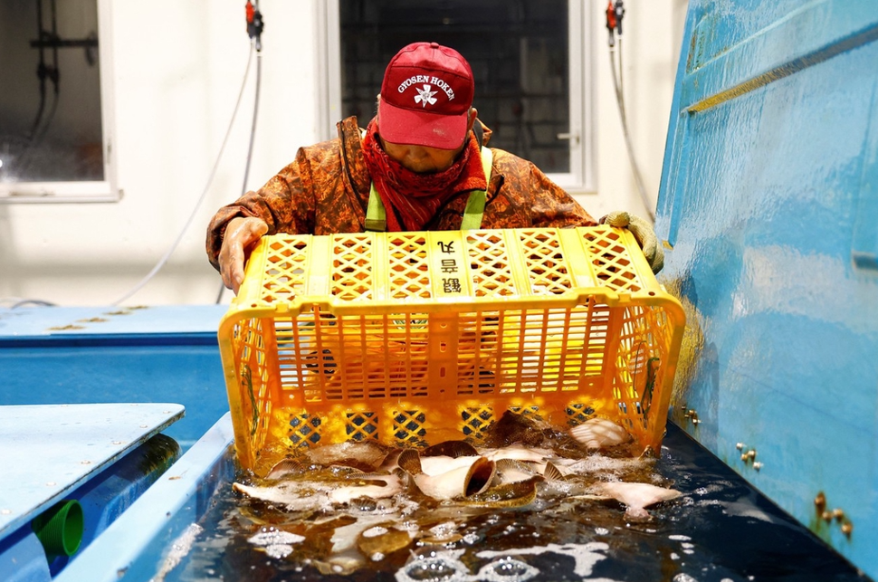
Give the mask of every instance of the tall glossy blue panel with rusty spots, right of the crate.
[[876, 40], [875, 0], [691, 0], [656, 218], [673, 420], [871, 577]]

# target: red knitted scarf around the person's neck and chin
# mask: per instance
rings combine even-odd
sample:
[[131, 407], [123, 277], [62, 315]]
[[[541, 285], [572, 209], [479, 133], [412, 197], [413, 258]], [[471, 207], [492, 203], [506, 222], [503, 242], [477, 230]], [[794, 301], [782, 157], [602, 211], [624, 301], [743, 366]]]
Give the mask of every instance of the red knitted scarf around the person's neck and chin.
[[[378, 196], [387, 209], [387, 231], [391, 233], [404, 228], [424, 230], [439, 208], [455, 194], [487, 189], [482, 153], [472, 132], [469, 143], [451, 167], [442, 172], [418, 174], [387, 156], [377, 138], [377, 123], [372, 119], [363, 138], [363, 156]], [[394, 210], [402, 217], [403, 224], [399, 224]]]

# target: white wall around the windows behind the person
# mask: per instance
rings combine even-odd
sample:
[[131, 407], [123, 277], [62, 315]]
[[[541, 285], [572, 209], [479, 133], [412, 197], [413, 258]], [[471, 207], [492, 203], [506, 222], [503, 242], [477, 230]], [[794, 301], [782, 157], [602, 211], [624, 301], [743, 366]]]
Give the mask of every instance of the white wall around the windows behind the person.
[[[300, 145], [317, 141], [321, 0], [262, 0], [262, 87], [248, 188], [261, 186]], [[578, 196], [593, 215], [644, 215], [622, 138], [596, 13], [597, 192]], [[653, 200], [682, 33], [685, 0], [625, 3], [625, 95], [629, 129]], [[238, 0], [113, 2], [116, 154], [124, 196], [115, 204], [0, 205], [0, 306], [16, 298], [64, 306], [110, 305], [177, 239], [205, 189], [243, 81], [250, 42]], [[218, 274], [205, 258], [215, 209], [240, 195], [253, 112], [256, 57], [232, 135], [203, 205], [167, 265], [123, 305], [215, 301]], [[231, 292], [223, 295], [224, 302]]]

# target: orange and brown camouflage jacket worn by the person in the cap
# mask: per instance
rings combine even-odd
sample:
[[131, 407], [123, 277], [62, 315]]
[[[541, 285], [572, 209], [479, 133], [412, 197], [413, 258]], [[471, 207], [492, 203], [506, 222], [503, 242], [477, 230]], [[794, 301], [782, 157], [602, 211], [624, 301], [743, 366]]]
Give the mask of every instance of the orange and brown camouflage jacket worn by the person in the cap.
[[[481, 124], [481, 121], [480, 121]], [[207, 256], [217, 256], [225, 226], [236, 216], [256, 216], [268, 234], [361, 233], [371, 177], [363, 159], [357, 118], [338, 124], [339, 138], [300, 148], [296, 159], [257, 192], [217, 211], [207, 227]], [[491, 130], [482, 125], [482, 145]], [[482, 228], [591, 226], [596, 220], [528, 160], [491, 148], [493, 163]], [[461, 227], [468, 192], [452, 196], [427, 230]], [[388, 209], [389, 211], [389, 209]]]

